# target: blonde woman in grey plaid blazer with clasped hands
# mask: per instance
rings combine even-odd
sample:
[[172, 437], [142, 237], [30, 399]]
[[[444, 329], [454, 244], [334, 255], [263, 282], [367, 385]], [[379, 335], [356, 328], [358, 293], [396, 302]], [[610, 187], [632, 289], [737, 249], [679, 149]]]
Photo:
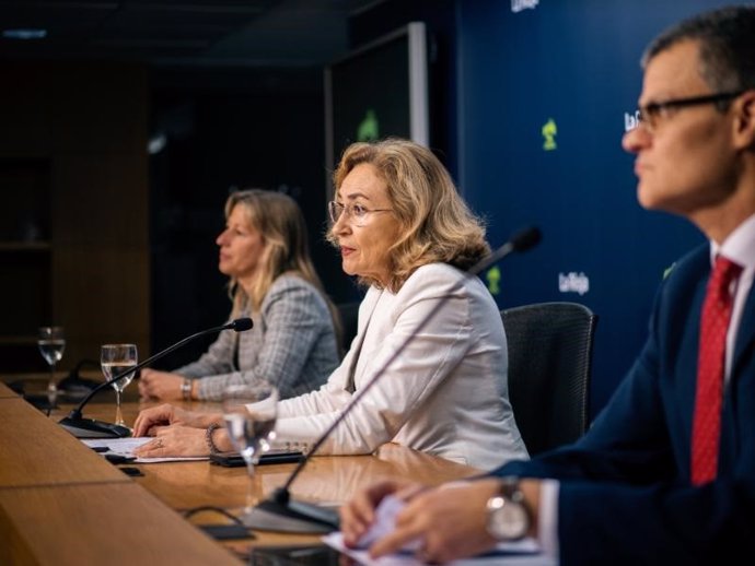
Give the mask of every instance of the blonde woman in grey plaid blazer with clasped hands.
[[254, 328], [221, 332], [174, 372], [142, 369], [142, 397], [218, 400], [229, 385], [265, 379], [289, 398], [318, 388], [338, 365], [337, 315], [310, 259], [299, 205], [279, 192], [243, 190], [228, 198], [225, 220], [216, 241], [230, 318], [251, 316]]

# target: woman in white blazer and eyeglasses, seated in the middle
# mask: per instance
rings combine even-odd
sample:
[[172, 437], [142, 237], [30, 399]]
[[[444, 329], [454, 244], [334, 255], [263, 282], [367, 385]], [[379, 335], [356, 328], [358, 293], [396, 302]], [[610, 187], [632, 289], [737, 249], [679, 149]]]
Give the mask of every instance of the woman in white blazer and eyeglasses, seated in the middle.
[[[276, 441], [306, 448], [369, 387], [320, 453], [370, 453], [394, 441], [480, 469], [526, 458], [508, 400], [500, 313], [465, 274], [490, 248], [446, 169], [410, 141], [355, 143], [334, 186], [328, 239], [368, 291], [341, 365], [321, 389], [279, 403]], [[204, 434], [220, 422], [171, 405], [142, 411], [135, 434], [159, 439], [139, 456], [231, 449], [224, 431]]]

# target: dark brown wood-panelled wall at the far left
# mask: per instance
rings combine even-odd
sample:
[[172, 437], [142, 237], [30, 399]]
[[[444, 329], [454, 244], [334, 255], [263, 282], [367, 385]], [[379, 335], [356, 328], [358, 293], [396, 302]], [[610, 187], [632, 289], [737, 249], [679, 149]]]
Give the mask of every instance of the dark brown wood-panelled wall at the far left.
[[66, 328], [57, 369], [105, 342], [150, 343], [139, 64], [0, 60], [0, 373], [45, 370], [39, 326]]

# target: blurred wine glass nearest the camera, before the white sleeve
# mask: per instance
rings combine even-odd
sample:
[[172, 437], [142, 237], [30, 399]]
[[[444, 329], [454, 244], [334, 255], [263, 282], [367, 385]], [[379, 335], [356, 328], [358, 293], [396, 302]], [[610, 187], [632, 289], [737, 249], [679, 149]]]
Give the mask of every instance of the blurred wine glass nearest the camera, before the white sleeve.
[[247, 510], [254, 504], [255, 465], [275, 437], [278, 389], [268, 382], [234, 385], [223, 390], [223, 420], [228, 436], [246, 462], [249, 475]]

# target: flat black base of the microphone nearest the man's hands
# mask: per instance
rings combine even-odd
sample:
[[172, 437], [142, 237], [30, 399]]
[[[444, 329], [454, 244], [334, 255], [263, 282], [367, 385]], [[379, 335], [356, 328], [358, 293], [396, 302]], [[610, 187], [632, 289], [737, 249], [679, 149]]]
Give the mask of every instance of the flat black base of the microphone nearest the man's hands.
[[334, 510], [302, 502], [287, 505], [266, 499], [242, 518], [244, 524], [260, 531], [325, 534], [339, 528]]

